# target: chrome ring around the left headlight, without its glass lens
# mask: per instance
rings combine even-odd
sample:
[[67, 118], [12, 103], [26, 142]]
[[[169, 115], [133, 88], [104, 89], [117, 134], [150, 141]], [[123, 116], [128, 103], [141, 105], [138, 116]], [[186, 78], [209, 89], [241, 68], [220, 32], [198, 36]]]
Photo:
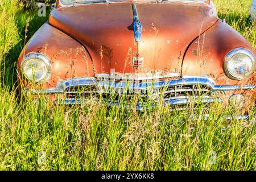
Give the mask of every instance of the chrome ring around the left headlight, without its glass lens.
[[47, 72], [46, 72], [46, 76], [44, 76], [42, 79], [40, 80], [34, 80], [36, 83], [38, 82], [46, 82], [49, 80], [49, 77], [51, 77], [51, 61], [48, 59], [48, 57], [42, 53], [38, 53], [38, 52], [32, 52], [29, 53], [28, 55], [26, 55], [20, 65], [20, 72], [22, 73], [22, 75], [26, 78], [26, 80], [29, 81], [33, 81], [31, 80], [31, 78], [29, 78], [26, 74], [26, 72], [24, 71], [24, 65], [26, 65], [26, 63], [28, 61], [30, 61], [31, 59], [40, 59], [41, 61], [43, 61], [43, 63], [46, 65], [47, 68]]

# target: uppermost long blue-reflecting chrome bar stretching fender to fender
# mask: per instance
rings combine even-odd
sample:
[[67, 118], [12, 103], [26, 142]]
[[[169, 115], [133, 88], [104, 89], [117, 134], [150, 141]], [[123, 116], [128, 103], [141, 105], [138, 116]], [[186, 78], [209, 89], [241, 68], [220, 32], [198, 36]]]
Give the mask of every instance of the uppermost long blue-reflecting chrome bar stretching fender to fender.
[[[127, 81], [116, 82], [115, 80], [97, 80], [94, 77], [80, 77], [71, 78], [62, 82], [57, 83], [57, 88], [43, 89], [43, 90], [23, 90], [23, 92], [32, 93], [65, 93], [65, 90], [71, 86], [106, 86], [109, 88], [125, 89]], [[179, 86], [179, 85], [191, 85], [200, 84], [209, 86], [209, 91], [233, 91], [233, 90], [247, 90], [254, 89], [255, 85], [215, 85], [215, 82], [211, 78], [207, 77], [192, 77], [183, 76], [173, 80], [164, 80], [158, 82], [131, 82], [129, 83], [129, 89], [146, 90], [147, 88], [161, 88], [164, 86]], [[101, 90], [99, 90], [101, 91]], [[93, 91], [92, 91], [93, 92]]]

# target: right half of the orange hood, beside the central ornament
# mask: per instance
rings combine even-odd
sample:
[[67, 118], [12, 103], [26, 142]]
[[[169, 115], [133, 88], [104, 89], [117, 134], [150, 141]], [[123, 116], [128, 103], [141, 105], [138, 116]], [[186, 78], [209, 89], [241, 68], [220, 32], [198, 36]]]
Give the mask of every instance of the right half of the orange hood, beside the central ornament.
[[189, 43], [217, 21], [217, 16], [208, 16], [209, 10], [197, 3], [138, 4], [143, 26], [139, 55], [145, 60], [141, 72], [180, 73]]

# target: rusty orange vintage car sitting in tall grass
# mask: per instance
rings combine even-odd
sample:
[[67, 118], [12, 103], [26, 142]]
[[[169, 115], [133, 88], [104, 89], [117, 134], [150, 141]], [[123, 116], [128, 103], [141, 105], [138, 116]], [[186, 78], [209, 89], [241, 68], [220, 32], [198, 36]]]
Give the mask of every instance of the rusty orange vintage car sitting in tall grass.
[[242, 109], [254, 106], [254, 68], [254, 48], [209, 0], [57, 0], [20, 53], [18, 81], [21, 93], [65, 104], [139, 94], [152, 106], [161, 95], [181, 108], [199, 100]]

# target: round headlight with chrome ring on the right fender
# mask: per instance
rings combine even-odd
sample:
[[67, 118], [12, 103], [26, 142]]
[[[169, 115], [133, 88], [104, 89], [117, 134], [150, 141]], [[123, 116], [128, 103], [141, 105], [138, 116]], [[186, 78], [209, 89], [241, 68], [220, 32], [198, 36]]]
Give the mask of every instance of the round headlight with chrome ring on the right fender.
[[254, 55], [245, 48], [233, 49], [224, 60], [224, 72], [232, 80], [243, 80], [251, 76], [254, 68]]

